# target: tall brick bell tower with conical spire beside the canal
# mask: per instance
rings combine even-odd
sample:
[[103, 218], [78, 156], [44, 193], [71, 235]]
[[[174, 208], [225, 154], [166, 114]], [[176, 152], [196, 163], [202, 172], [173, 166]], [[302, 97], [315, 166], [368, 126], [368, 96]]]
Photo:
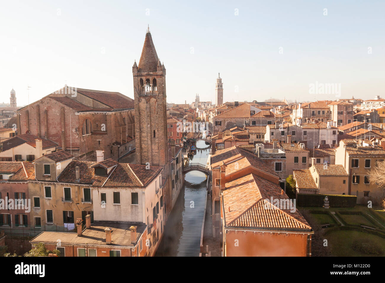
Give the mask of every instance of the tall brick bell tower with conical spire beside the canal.
[[132, 66], [132, 75], [134, 77], [136, 163], [166, 166], [168, 162], [166, 68], [156, 54], [149, 28], [139, 64], [137, 65], [135, 61]]

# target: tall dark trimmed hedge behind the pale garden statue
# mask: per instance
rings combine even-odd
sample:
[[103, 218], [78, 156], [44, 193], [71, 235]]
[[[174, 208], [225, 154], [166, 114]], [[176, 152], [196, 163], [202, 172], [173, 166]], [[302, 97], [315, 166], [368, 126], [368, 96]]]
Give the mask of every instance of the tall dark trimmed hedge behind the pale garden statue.
[[354, 207], [357, 204], [357, 196], [341, 194], [297, 194], [298, 206], [323, 207], [323, 199], [329, 198], [330, 207]]

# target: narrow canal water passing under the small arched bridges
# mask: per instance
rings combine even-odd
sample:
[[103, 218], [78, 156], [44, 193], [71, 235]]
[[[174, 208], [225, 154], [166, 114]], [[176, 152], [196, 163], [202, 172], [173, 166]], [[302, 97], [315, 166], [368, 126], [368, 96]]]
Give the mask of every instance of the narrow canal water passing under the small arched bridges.
[[[197, 152], [189, 162], [206, 165], [210, 149], [204, 141], [196, 144]], [[206, 175], [186, 173], [184, 187], [167, 220], [156, 256], [199, 256], [203, 213], [206, 206]]]

